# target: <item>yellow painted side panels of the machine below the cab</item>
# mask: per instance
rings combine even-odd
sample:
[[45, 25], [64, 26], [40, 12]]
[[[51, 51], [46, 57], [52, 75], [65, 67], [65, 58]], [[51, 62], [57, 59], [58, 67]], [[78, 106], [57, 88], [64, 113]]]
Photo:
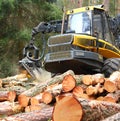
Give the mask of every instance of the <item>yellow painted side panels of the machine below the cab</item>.
[[[79, 46], [83, 49], [90, 50], [93, 52], [97, 52], [96, 48], [96, 37], [92, 37], [89, 35], [74, 35], [73, 45]], [[111, 58], [111, 57], [120, 57], [120, 50], [117, 49], [115, 46], [112, 46], [112, 44], [99, 39], [99, 53], [103, 55], [105, 58]], [[106, 47], [106, 48], [105, 48]], [[108, 48], [109, 49], [108, 49]], [[115, 52], [116, 51], [116, 52]]]

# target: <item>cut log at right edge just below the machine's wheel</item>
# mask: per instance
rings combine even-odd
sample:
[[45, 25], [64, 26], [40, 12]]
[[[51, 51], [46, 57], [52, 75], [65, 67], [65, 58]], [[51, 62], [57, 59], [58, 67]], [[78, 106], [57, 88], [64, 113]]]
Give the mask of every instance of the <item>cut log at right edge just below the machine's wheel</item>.
[[115, 71], [113, 72], [109, 78], [105, 80], [104, 88], [108, 92], [115, 92], [116, 90], [120, 89], [120, 72]]

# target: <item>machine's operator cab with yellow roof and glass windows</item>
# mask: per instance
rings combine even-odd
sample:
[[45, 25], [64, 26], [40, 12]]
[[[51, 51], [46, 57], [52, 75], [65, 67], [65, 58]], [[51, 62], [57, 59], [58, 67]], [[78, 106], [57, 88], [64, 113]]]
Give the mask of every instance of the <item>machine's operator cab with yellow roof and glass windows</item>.
[[[80, 12], [79, 12], [80, 11]], [[96, 36], [99, 39], [113, 43], [109, 29], [108, 18], [102, 8], [84, 7], [67, 12], [67, 32]]]

